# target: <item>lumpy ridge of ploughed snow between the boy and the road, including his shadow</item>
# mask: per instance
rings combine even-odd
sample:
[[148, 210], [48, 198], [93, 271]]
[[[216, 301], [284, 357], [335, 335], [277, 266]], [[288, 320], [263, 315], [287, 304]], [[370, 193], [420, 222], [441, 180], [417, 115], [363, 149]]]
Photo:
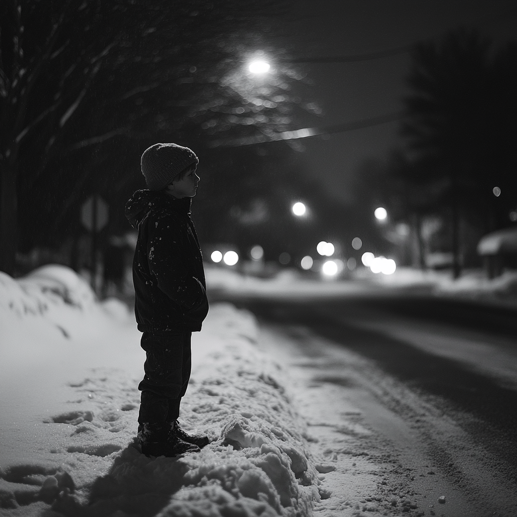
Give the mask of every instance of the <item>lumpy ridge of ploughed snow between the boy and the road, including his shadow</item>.
[[181, 413], [183, 427], [206, 432], [210, 445], [200, 453], [150, 460], [134, 440], [114, 454], [88, 506], [65, 494], [53, 510], [67, 516], [158, 511], [157, 517], [294, 517], [311, 515], [313, 502], [330, 496], [307, 451], [305, 424], [284, 384], [286, 372], [254, 346], [253, 316], [230, 304], [210, 310], [217, 325], [207, 322], [206, 342], [203, 334], [194, 338]]

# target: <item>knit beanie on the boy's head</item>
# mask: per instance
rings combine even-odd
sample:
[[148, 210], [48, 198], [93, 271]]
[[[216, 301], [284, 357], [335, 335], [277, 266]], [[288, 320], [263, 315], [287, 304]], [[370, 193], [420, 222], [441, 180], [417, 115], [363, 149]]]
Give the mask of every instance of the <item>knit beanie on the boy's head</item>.
[[149, 190], [161, 190], [190, 165], [199, 163], [192, 149], [177, 144], [154, 144], [141, 160], [142, 174]]

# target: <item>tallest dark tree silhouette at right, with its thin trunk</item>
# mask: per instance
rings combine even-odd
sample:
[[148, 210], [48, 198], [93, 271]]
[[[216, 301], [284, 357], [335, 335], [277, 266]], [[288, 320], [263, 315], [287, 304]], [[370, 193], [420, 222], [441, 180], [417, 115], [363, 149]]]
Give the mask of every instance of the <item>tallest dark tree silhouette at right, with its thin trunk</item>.
[[465, 29], [439, 44], [420, 43], [413, 53], [402, 134], [421, 186], [446, 187], [434, 203], [450, 208], [455, 278], [461, 271], [460, 216], [481, 215], [491, 227], [505, 224], [494, 207], [495, 186], [506, 192], [505, 210], [517, 202], [516, 61], [515, 43], [494, 49]]

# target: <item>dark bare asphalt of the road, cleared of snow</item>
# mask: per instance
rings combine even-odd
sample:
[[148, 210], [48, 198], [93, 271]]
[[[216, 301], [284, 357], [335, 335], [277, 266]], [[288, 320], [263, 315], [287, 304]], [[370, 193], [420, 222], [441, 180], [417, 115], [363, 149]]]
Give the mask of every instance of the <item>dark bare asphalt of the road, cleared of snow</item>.
[[[436, 355], [378, 330], [394, 318], [418, 326], [429, 322], [476, 332], [494, 353], [504, 341], [506, 352], [517, 354], [517, 312], [478, 303], [425, 296], [347, 297], [333, 300], [231, 300], [252, 311], [259, 321], [303, 325], [375, 361], [377, 367], [429, 399], [492, 456], [492, 466], [517, 486], [517, 391], [465, 363]], [[363, 322], [357, 326], [356, 321]], [[372, 322], [371, 327], [368, 322]], [[366, 322], [366, 324], [364, 324]], [[375, 325], [373, 325], [375, 322]], [[479, 358], [480, 361], [483, 358]], [[439, 451], [437, 451], [439, 455]], [[444, 455], [442, 462], [447, 462]]]

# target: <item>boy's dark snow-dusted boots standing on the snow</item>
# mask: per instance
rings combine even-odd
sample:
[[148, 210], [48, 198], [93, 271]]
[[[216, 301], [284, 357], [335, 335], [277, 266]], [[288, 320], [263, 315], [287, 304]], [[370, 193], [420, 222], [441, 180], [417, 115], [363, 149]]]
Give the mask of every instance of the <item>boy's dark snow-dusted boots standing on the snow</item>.
[[196, 445], [189, 444], [172, 436], [169, 425], [165, 423], [142, 423], [138, 426], [138, 439], [142, 447], [142, 454], [147, 457], [165, 456], [174, 458], [187, 452], [200, 452]]

